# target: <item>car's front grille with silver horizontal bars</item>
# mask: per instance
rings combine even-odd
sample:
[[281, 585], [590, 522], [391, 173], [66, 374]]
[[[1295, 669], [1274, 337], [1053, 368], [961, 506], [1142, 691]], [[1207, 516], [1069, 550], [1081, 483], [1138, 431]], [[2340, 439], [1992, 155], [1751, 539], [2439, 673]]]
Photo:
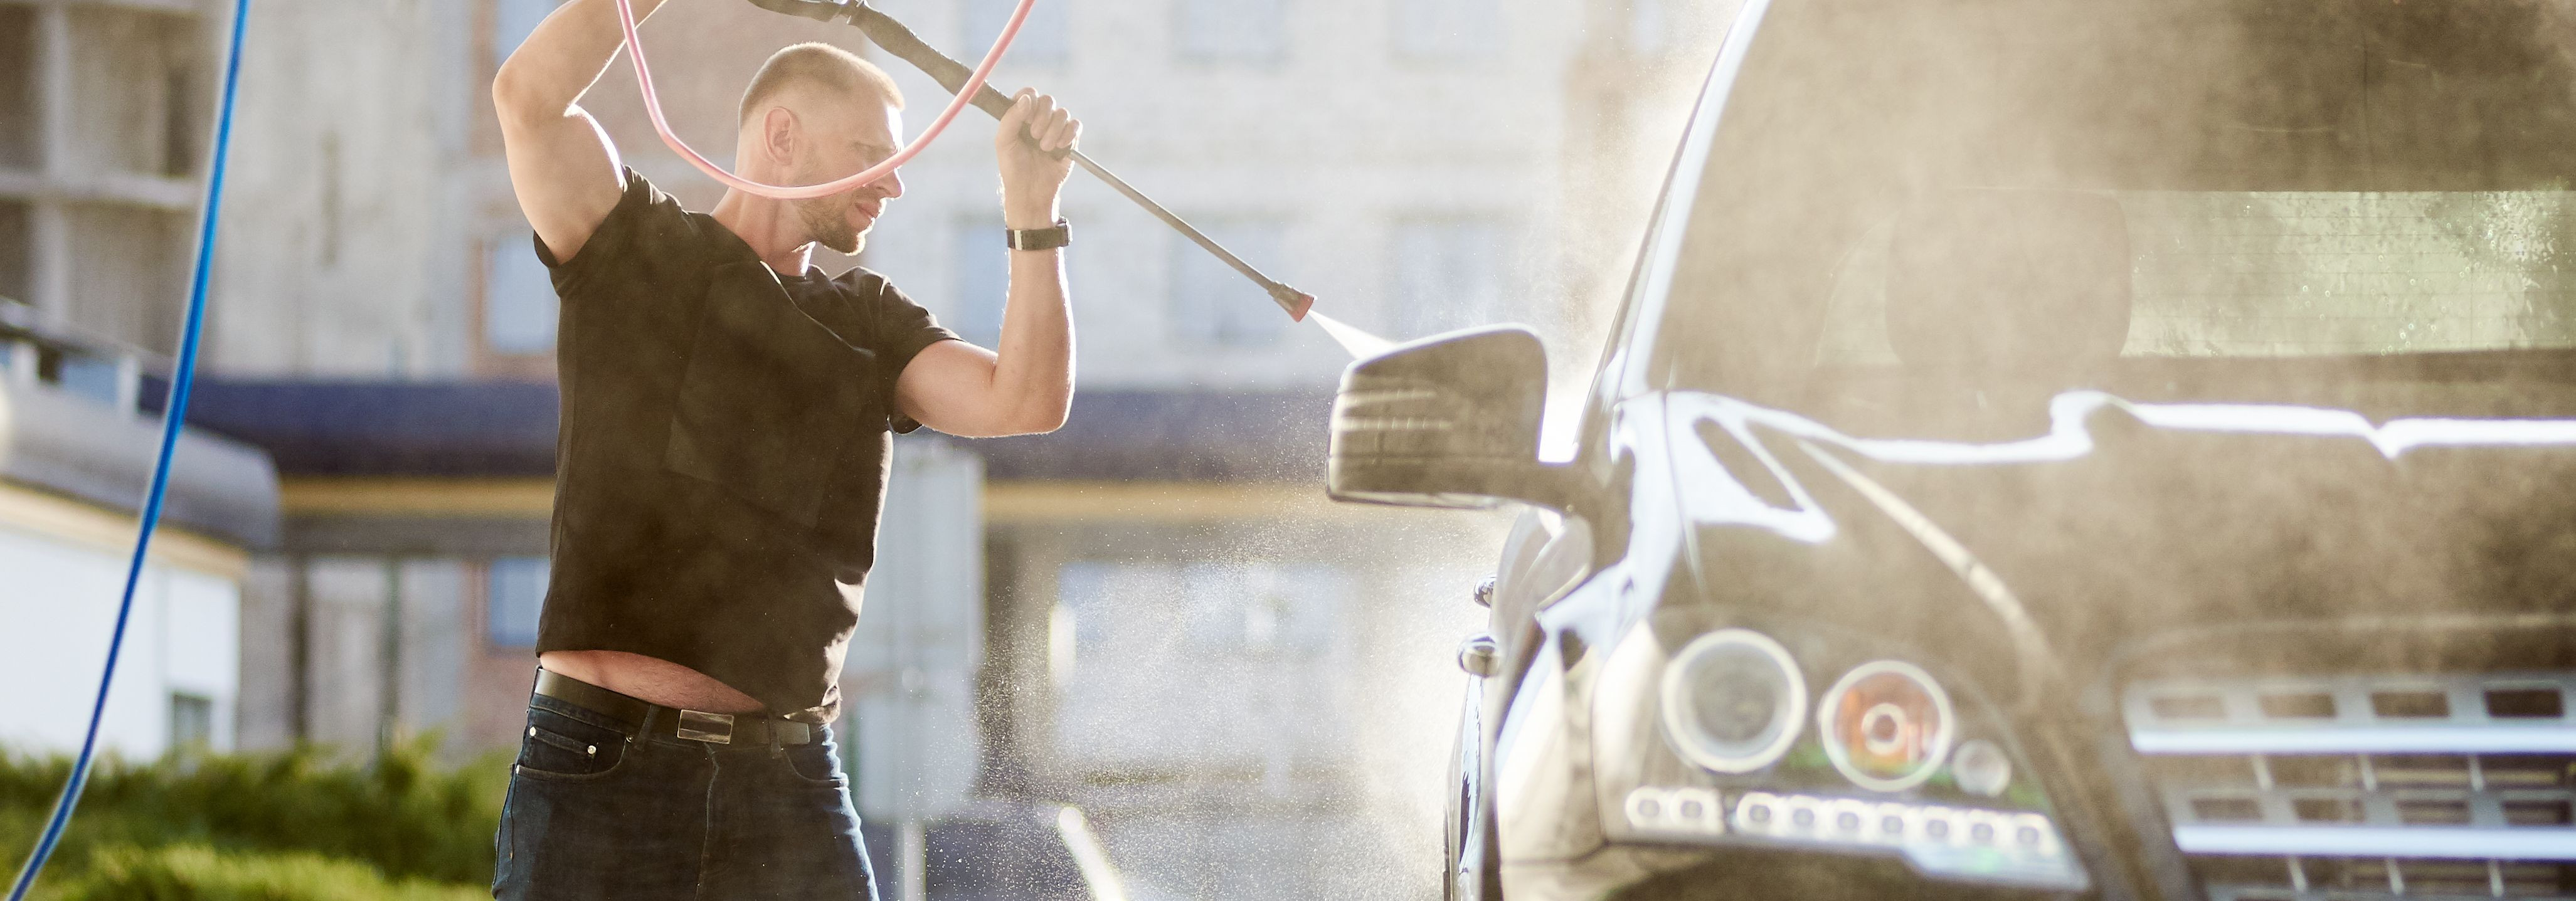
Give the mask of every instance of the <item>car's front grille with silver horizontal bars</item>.
[[2213, 901], [2576, 898], [2571, 687], [2143, 680], [2120, 713]]

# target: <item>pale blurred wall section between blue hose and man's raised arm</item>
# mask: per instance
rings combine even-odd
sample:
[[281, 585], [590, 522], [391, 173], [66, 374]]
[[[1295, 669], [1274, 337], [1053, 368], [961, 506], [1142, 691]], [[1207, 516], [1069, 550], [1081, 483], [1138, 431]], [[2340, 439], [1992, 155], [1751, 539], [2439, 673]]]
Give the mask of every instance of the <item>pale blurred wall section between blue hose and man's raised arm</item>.
[[469, 371], [482, 5], [252, 3], [209, 368]]

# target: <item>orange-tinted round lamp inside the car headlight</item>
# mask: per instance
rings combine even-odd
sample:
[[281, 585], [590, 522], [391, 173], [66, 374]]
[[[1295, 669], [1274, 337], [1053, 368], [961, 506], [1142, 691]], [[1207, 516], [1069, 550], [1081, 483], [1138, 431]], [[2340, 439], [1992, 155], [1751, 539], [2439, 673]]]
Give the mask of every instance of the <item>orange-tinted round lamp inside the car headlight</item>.
[[1922, 667], [1880, 659], [1842, 674], [1816, 711], [1824, 757], [1852, 785], [1906, 790], [1950, 754], [1950, 695]]

